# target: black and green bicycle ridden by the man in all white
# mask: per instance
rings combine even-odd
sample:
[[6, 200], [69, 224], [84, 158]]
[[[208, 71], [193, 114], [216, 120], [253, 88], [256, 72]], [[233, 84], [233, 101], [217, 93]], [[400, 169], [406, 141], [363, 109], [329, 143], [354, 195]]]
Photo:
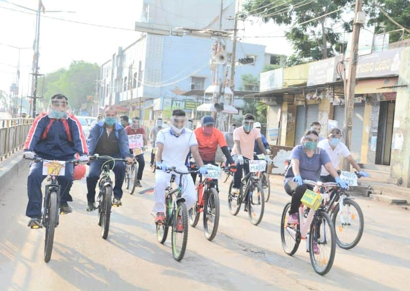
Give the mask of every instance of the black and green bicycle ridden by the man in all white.
[[[157, 170], [159, 169], [157, 168]], [[191, 171], [180, 172], [175, 167], [171, 167], [166, 172], [178, 174], [179, 184], [177, 189], [172, 189], [176, 177], [175, 174], [172, 174], [170, 186], [165, 189], [165, 219], [163, 223], [156, 225], [157, 239], [159, 243], [163, 244], [167, 240], [168, 228], [172, 227], [172, 255], [175, 260], [180, 261], [185, 254], [188, 241], [188, 210], [185, 198], [182, 197], [182, 176], [191, 174]], [[177, 230], [178, 223], [179, 226], [182, 226], [182, 230]]]

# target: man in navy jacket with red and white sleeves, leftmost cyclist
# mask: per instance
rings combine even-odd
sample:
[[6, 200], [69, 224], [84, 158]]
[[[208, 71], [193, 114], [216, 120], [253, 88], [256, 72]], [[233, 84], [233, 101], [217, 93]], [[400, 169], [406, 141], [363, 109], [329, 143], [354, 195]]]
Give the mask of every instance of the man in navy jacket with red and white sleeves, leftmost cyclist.
[[[81, 161], [87, 161], [88, 150], [86, 138], [80, 122], [70, 114], [68, 99], [62, 94], [51, 97], [47, 113], [40, 114], [33, 122], [24, 144], [24, 157], [33, 159], [34, 156], [45, 160], [70, 161], [78, 152]], [[58, 176], [61, 186], [60, 212], [70, 213], [71, 207], [67, 202], [72, 201], [70, 189], [73, 184], [74, 164], [65, 165], [65, 175]], [[42, 216], [42, 182], [43, 162], [32, 163], [27, 178], [26, 215], [30, 217], [29, 227], [39, 227]]]

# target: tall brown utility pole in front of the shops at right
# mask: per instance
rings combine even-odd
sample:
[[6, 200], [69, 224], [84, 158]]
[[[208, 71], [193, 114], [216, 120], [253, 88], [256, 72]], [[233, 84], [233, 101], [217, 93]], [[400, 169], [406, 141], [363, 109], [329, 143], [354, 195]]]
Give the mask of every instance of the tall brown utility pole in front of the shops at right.
[[[349, 60], [349, 72], [347, 77], [347, 89], [344, 102], [344, 141], [348, 149], [351, 148], [352, 140], [352, 126], [353, 126], [353, 108], [355, 105], [355, 87], [356, 87], [356, 67], [358, 59], [359, 48], [359, 34], [360, 26], [358, 23], [358, 13], [362, 10], [362, 0], [356, 0], [355, 16], [353, 19], [353, 35], [352, 35], [352, 47], [350, 51]], [[348, 165], [344, 165], [344, 169], [348, 170]]]

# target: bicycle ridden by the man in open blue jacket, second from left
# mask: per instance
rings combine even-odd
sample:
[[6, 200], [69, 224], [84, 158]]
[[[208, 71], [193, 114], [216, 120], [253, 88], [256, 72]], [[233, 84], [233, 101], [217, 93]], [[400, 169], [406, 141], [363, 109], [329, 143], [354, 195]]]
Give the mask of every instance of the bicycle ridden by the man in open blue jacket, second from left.
[[[107, 160], [101, 166], [101, 176], [98, 181], [98, 225], [101, 227], [101, 237], [106, 239], [108, 237], [108, 232], [110, 229], [110, 216], [111, 216], [111, 208], [113, 206], [113, 187], [112, 181], [110, 178], [110, 170], [114, 168], [115, 162], [125, 162], [125, 159], [116, 159], [109, 155], [98, 155], [94, 154], [90, 156], [90, 161], [98, 160], [98, 159], [105, 159]], [[111, 166], [112, 165], [112, 166]], [[118, 207], [118, 205], [116, 205]]]

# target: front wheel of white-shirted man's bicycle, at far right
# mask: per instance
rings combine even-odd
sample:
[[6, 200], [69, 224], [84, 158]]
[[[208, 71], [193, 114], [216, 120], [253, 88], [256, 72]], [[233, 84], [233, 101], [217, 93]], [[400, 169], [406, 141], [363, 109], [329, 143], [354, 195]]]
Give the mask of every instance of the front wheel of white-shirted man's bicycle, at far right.
[[332, 212], [336, 232], [336, 243], [340, 248], [349, 250], [359, 243], [364, 228], [363, 212], [360, 206], [351, 199], [343, 199], [343, 210], [339, 203]]

